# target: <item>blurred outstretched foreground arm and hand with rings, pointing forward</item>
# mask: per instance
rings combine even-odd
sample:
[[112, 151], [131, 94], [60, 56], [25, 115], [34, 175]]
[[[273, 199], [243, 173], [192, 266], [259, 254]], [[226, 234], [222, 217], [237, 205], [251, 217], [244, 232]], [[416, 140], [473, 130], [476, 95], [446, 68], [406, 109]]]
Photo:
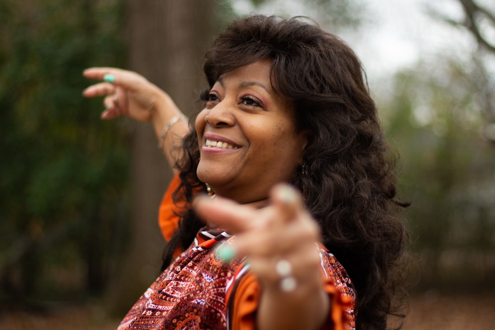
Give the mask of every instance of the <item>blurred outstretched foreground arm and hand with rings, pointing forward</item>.
[[262, 209], [218, 196], [198, 198], [195, 209], [206, 222], [235, 234], [235, 254], [247, 256], [262, 290], [256, 329], [323, 327], [330, 299], [315, 248], [319, 232], [294, 189], [275, 187], [269, 206]]

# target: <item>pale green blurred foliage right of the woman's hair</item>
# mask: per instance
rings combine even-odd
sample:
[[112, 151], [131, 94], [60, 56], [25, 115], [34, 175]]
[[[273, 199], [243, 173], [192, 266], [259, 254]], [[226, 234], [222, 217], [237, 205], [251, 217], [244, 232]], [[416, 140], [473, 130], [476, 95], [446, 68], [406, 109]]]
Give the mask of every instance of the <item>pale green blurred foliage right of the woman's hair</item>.
[[495, 144], [480, 134], [489, 95], [478, 64], [443, 56], [400, 72], [385, 106], [423, 287], [493, 286]]

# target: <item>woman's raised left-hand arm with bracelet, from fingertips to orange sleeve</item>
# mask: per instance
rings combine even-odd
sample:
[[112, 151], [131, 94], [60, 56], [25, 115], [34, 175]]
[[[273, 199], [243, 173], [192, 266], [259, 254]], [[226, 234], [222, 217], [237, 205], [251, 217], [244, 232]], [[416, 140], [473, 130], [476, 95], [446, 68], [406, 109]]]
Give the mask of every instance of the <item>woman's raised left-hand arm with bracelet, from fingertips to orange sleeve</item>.
[[102, 82], [83, 91], [85, 97], [104, 96], [102, 119], [128, 116], [153, 125], [157, 145], [161, 147], [171, 169], [180, 156], [182, 138], [189, 133], [188, 119], [172, 98], [140, 74], [117, 68], [94, 67], [83, 75]]

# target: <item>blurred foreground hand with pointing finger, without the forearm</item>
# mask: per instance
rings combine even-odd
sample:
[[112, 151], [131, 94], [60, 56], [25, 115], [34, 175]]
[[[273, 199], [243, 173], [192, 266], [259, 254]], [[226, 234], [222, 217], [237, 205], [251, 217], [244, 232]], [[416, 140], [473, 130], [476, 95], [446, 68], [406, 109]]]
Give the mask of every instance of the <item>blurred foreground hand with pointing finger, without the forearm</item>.
[[318, 227], [296, 190], [287, 185], [275, 187], [269, 206], [261, 209], [219, 196], [199, 197], [195, 209], [207, 223], [236, 235], [235, 253], [247, 256], [251, 271], [264, 290], [285, 293], [280, 286], [281, 275], [276, 271], [280, 260], [291, 265], [297, 288], [321, 286], [320, 257], [315, 247]]

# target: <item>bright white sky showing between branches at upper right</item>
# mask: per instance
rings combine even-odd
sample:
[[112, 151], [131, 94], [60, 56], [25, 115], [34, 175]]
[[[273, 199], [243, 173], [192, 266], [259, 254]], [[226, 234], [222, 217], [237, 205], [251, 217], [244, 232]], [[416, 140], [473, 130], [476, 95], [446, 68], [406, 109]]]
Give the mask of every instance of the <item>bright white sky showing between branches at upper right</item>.
[[[420, 59], [440, 52], [458, 56], [467, 54], [466, 47], [475, 47], [467, 31], [432, 18], [427, 6], [451, 18], [461, 20], [462, 8], [457, 0], [356, 0], [366, 7], [366, 23], [355, 32], [337, 33], [356, 51], [363, 62], [368, 79], [379, 80], [397, 69], [409, 67]], [[301, 0], [271, 0], [261, 9], [254, 9], [248, 0], [234, 1], [240, 14], [305, 15], [314, 17]], [[493, 0], [479, 0], [486, 3]], [[493, 5], [493, 3], [492, 3]]]

